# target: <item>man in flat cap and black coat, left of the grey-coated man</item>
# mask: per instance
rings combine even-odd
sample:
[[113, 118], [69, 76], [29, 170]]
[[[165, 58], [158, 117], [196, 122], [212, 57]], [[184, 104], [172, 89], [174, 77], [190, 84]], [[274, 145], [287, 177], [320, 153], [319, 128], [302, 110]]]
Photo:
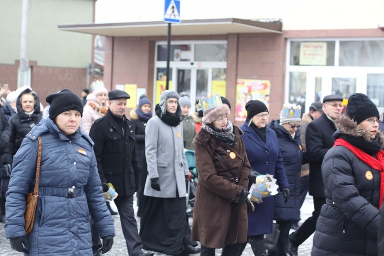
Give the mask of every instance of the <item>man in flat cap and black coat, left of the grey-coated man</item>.
[[107, 183], [111, 183], [118, 193], [115, 204], [128, 253], [134, 256], [153, 255], [153, 252], [141, 250], [143, 244], [133, 209], [133, 195], [139, 186], [140, 169], [136, 159], [135, 130], [125, 117], [126, 100], [130, 99], [130, 95], [125, 91], [112, 90], [108, 97], [108, 112], [95, 121], [89, 133], [95, 143], [103, 191], [106, 192]]

